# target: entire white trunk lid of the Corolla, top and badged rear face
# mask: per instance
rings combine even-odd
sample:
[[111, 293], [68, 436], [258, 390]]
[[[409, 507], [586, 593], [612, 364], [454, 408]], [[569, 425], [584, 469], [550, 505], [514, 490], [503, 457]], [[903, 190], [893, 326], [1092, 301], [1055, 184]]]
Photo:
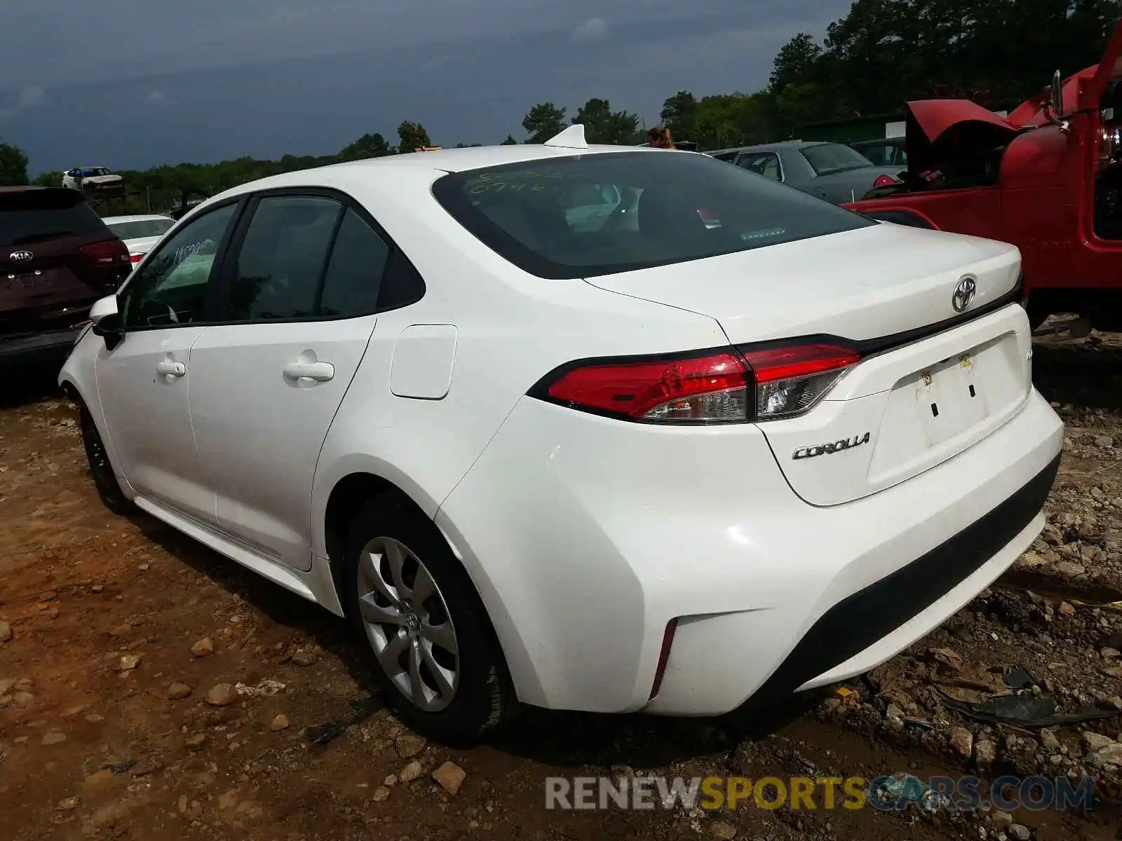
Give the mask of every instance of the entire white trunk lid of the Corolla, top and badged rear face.
[[[794, 492], [831, 506], [936, 466], [1023, 407], [1028, 320], [1000, 306], [1019, 275], [1011, 246], [884, 224], [588, 283], [708, 315], [737, 345], [857, 348], [862, 362], [809, 413], [760, 424]], [[964, 277], [976, 294], [958, 313]]]

